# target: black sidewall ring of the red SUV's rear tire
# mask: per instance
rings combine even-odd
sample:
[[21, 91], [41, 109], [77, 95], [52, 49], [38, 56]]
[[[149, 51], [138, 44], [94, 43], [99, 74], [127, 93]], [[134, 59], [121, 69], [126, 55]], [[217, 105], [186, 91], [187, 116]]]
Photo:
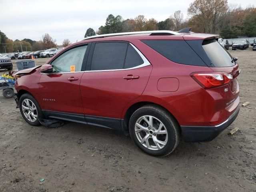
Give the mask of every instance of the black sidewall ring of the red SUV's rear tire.
[[[144, 116], [144, 115], [151, 115], [154, 116], [156, 118], [158, 118], [166, 127], [166, 130], [168, 132], [168, 141], [166, 146], [164, 146], [164, 148], [160, 149], [160, 150], [150, 150], [147, 149], [146, 147], [144, 147], [142, 144], [140, 144], [140, 142], [138, 141], [136, 134], [135, 134], [135, 123], [138, 120], [138, 118]], [[170, 119], [167, 118], [165, 114], [160, 114], [158, 111], [152, 109], [152, 108], [142, 108], [137, 110], [136, 112], [134, 112], [134, 114], [131, 116], [130, 118], [130, 122], [129, 122], [129, 131], [130, 131], [130, 136], [133, 140], [133, 142], [144, 152], [153, 155], [153, 156], [165, 156], [167, 154], [169, 154], [170, 152], [172, 152], [175, 148], [176, 148], [176, 142], [177, 141], [177, 137], [176, 137], [176, 131], [174, 126], [176, 126], [174, 124], [174, 122]]]

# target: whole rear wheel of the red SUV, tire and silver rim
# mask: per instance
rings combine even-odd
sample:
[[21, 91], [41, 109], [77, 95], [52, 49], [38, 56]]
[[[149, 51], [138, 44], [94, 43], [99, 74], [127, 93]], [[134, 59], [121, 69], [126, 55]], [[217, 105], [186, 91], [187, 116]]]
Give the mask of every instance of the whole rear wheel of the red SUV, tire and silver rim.
[[170, 154], [180, 142], [178, 122], [157, 105], [146, 105], [136, 110], [129, 121], [129, 132], [134, 143], [153, 156]]

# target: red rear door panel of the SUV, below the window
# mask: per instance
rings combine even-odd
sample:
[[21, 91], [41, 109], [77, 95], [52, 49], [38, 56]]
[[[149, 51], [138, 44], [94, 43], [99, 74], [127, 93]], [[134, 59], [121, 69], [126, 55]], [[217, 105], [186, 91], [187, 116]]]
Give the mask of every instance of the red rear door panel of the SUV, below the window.
[[[121, 118], [124, 107], [140, 97], [152, 66], [132, 70], [85, 72], [80, 83], [84, 114]], [[128, 75], [138, 79], [126, 80]]]

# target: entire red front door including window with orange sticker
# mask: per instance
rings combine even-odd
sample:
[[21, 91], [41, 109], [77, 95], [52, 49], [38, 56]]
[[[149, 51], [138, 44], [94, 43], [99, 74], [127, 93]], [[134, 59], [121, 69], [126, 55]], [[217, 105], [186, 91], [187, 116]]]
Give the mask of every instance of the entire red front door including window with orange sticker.
[[80, 81], [87, 48], [88, 45], [83, 45], [63, 52], [50, 63], [54, 72], [42, 74], [39, 91], [44, 114], [57, 113], [58, 116], [59, 113], [65, 116], [64, 113], [67, 113], [67, 118], [72, 114], [82, 114], [84, 117]]

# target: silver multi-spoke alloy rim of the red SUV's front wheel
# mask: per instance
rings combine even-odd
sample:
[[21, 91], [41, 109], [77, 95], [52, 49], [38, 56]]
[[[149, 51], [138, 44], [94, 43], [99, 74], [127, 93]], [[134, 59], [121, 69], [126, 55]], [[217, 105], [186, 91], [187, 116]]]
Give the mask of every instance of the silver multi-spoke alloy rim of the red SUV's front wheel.
[[24, 99], [22, 101], [22, 112], [24, 116], [26, 117], [27, 120], [30, 122], [35, 122], [38, 117], [37, 109], [35, 104], [29, 100], [29, 99]]

